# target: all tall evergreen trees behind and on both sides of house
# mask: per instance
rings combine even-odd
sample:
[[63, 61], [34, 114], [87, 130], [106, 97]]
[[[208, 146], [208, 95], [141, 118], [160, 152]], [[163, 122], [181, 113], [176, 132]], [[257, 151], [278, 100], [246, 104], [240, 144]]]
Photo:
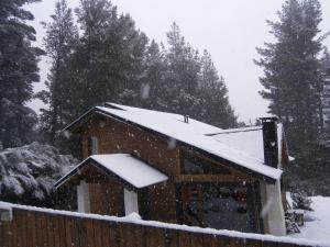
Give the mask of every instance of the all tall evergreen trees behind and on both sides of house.
[[[44, 45], [34, 47], [36, 33], [26, 24], [33, 14], [24, 4], [37, 1], [0, 1], [0, 149], [36, 139], [66, 151], [61, 130], [107, 101], [187, 114], [222, 128], [240, 125], [211, 55], [193, 47], [176, 23], [162, 44], [110, 0], [80, 0], [76, 10], [57, 0], [44, 23]], [[318, 0], [286, 0], [278, 20], [267, 21], [275, 42], [258, 47], [254, 61], [264, 71], [260, 93], [284, 123], [296, 158], [289, 179], [322, 182], [330, 193], [330, 54], [321, 21]], [[52, 63], [47, 90], [34, 93], [42, 56]], [[46, 105], [40, 116], [26, 106], [35, 98]]]

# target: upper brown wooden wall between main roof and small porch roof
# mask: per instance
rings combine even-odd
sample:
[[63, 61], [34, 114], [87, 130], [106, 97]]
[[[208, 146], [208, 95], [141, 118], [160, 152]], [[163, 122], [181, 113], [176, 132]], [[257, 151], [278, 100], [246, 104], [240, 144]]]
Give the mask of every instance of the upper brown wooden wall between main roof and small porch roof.
[[88, 138], [98, 138], [99, 154], [135, 154], [170, 177], [179, 173], [179, 148], [168, 148], [167, 139], [110, 117], [96, 115], [82, 127], [82, 155], [88, 157]]

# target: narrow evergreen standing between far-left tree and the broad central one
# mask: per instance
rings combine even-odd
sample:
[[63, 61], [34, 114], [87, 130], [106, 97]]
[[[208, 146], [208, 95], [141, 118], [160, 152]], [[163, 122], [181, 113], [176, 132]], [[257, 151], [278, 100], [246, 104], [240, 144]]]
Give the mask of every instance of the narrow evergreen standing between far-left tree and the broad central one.
[[66, 0], [58, 0], [55, 3], [55, 13], [51, 18], [52, 22], [44, 24], [47, 29], [44, 44], [46, 54], [52, 60], [52, 68], [46, 81], [48, 90], [40, 96], [48, 104], [48, 109], [42, 109], [42, 128], [54, 143], [56, 132], [64, 127], [64, 115], [69, 114], [69, 112], [64, 112], [66, 82], [70, 72], [67, 66], [69, 56], [77, 44], [78, 30]]

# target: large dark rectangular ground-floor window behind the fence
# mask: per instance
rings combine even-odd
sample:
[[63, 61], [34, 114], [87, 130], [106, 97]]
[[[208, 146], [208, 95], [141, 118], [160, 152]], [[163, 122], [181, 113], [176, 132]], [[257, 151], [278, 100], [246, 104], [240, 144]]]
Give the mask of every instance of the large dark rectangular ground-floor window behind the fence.
[[180, 188], [183, 223], [217, 229], [255, 232], [255, 215], [248, 187], [187, 183]]

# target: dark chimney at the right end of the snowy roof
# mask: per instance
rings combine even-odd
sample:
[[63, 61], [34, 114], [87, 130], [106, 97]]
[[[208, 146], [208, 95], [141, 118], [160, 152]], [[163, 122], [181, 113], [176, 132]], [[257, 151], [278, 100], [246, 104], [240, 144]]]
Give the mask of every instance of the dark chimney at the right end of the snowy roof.
[[264, 159], [265, 165], [277, 168], [278, 144], [277, 144], [277, 117], [261, 117], [263, 125]]

